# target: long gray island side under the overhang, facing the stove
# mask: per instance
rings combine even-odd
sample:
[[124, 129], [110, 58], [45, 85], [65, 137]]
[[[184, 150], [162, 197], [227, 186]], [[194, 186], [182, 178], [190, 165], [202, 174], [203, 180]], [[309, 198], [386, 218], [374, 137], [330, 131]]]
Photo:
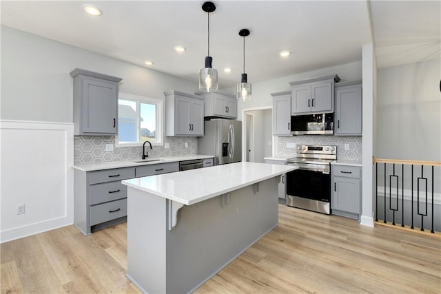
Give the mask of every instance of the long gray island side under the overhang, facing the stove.
[[232, 191], [224, 207], [218, 196], [178, 212], [167, 231], [167, 293], [195, 290], [276, 227], [278, 178], [260, 182], [256, 194], [254, 185]]

